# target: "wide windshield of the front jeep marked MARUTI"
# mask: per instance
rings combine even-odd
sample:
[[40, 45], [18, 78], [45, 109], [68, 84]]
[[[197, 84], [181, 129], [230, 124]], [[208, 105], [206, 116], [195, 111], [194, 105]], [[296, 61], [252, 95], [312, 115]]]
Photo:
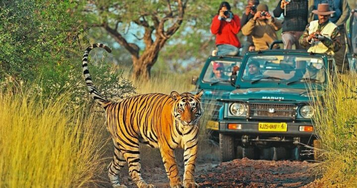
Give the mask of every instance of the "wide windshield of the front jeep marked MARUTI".
[[326, 79], [326, 68], [320, 57], [298, 55], [260, 55], [248, 57], [242, 80], [251, 82], [279, 82], [286, 84], [313, 82]]

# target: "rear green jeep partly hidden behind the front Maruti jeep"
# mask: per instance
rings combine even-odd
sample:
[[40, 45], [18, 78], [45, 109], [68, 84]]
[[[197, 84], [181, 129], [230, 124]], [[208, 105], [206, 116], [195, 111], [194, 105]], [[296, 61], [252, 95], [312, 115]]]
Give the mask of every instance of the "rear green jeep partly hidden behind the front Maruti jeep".
[[225, 95], [229, 95], [236, 88], [231, 85], [233, 66], [240, 66], [242, 57], [238, 56], [210, 56], [199, 77], [192, 78], [192, 84], [196, 86], [196, 91], [204, 90], [202, 105], [205, 114], [209, 114], [206, 128], [211, 130], [211, 139], [218, 142], [218, 112], [222, 102], [217, 101]]

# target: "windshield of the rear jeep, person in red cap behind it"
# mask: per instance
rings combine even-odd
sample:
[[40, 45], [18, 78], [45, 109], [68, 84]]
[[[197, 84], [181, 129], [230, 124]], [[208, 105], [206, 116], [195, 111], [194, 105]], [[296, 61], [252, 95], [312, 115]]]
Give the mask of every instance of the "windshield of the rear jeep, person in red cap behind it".
[[229, 84], [234, 66], [240, 66], [240, 61], [211, 61], [206, 69], [203, 81], [215, 85], [218, 83]]

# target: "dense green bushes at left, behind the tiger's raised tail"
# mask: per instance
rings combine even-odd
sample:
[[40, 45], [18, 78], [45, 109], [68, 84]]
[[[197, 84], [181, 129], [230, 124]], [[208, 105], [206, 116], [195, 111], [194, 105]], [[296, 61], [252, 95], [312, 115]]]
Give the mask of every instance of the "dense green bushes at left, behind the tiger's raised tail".
[[[83, 18], [75, 14], [76, 2], [64, 0], [14, 0], [0, 2], [0, 82], [24, 83], [32, 94], [55, 98], [70, 92], [76, 104], [91, 100], [84, 86], [80, 42], [86, 41]], [[87, 44], [84, 44], [88, 46]], [[94, 50], [95, 51], [95, 50]], [[91, 54], [93, 54], [92, 52]], [[134, 88], [120, 79], [111, 64], [93, 66], [101, 77], [98, 86], [109, 98], [133, 94]], [[92, 66], [92, 65], [90, 65]], [[11, 88], [11, 87], [10, 87]], [[110, 90], [110, 91], [108, 91]]]

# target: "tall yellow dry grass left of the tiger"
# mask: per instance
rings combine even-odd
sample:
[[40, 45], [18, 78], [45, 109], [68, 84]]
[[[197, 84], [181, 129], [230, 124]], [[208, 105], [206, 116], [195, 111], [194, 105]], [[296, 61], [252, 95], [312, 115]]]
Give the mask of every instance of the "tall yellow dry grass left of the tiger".
[[65, 96], [45, 103], [26, 93], [0, 92], [1, 188], [91, 183], [102, 158], [96, 130], [103, 124], [94, 123], [86, 110], [69, 111], [67, 104]]

